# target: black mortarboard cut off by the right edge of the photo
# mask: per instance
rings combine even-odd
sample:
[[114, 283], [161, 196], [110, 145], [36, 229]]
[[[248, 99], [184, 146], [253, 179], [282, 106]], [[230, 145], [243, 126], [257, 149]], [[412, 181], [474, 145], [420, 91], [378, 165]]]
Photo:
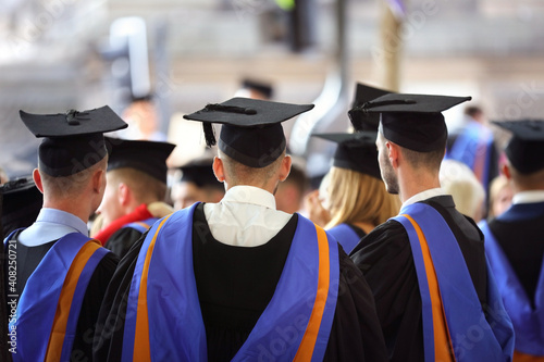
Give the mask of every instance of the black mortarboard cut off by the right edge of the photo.
[[512, 133], [505, 153], [516, 170], [530, 174], [544, 168], [544, 121], [494, 121], [493, 124]]

